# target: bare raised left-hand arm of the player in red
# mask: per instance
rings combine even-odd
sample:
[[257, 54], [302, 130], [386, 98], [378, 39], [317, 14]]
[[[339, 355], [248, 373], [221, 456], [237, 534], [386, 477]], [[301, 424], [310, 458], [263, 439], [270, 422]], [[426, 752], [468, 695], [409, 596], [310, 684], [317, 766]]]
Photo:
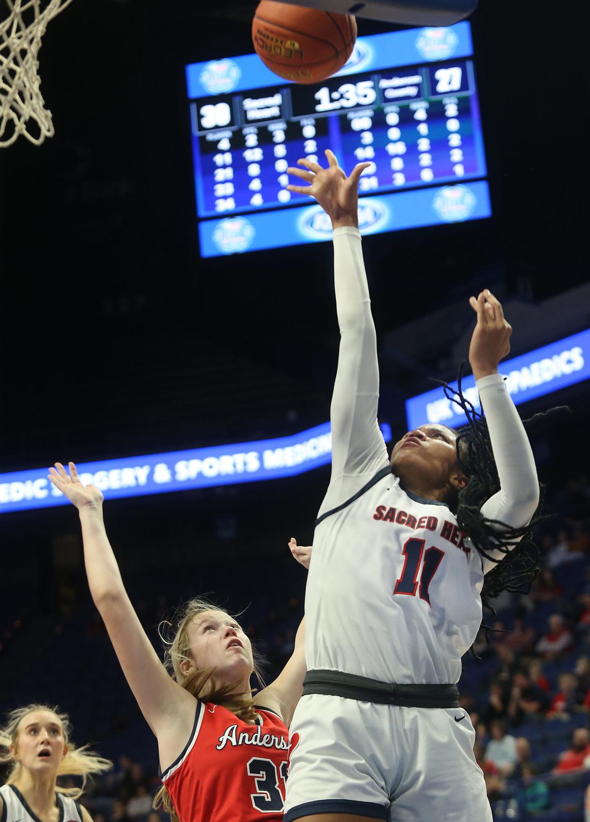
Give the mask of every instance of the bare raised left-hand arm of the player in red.
[[127, 596], [103, 520], [103, 494], [84, 486], [69, 464], [49, 469], [49, 479], [76, 506], [82, 526], [86, 576], [94, 605], [113, 643], [125, 678], [158, 738], [160, 758], [172, 762], [190, 735], [196, 700], [177, 685], [160, 662]]

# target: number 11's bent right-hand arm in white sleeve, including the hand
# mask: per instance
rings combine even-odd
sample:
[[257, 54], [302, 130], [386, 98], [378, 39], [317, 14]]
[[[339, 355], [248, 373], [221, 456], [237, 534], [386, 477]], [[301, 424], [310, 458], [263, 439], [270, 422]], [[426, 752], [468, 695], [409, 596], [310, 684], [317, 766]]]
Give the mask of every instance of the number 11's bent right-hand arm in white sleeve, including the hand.
[[[512, 328], [505, 321], [500, 302], [486, 289], [469, 301], [477, 313], [477, 325], [469, 347], [469, 363], [486, 413], [500, 491], [482, 506], [482, 515], [512, 528], [523, 528], [539, 503], [539, 481], [531, 444], [514, 407], [498, 363], [510, 350]], [[497, 558], [504, 556], [497, 552]], [[494, 567], [484, 561], [484, 570]]]

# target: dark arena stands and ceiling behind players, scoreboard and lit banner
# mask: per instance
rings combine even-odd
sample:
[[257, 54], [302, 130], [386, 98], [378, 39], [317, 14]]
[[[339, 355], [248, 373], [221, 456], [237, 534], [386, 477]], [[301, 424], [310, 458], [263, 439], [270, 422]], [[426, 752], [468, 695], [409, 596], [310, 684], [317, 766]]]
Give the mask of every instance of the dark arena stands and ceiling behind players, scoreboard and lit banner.
[[[39, 73], [55, 136], [0, 150], [2, 476], [270, 440], [329, 419], [339, 342], [330, 242], [199, 253], [184, 67], [251, 53], [254, 8], [75, 0], [49, 24]], [[472, 293], [487, 287], [503, 302], [511, 357], [590, 328], [577, 16], [480, 0], [470, 23], [492, 216], [363, 241], [380, 419], [394, 441], [407, 430], [404, 401], [431, 390], [431, 377], [453, 380], [467, 358]], [[360, 36], [395, 28], [357, 22]], [[542, 574], [528, 597], [500, 598], [505, 631], [489, 645], [478, 637], [482, 659], [464, 658], [459, 682], [498, 820], [582, 822], [590, 780], [583, 767], [555, 772], [572, 745], [590, 755], [588, 381], [547, 386], [519, 410], [554, 404], [571, 413], [532, 441], [553, 515], [537, 529]], [[243, 612], [270, 679], [303, 608], [307, 572], [288, 539], [311, 544], [329, 476], [324, 465], [154, 496], [105, 492], [108, 534], [156, 647], [163, 617], [210, 594]], [[0, 478], [6, 499], [10, 482]], [[85, 797], [95, 822], [146, 819], [155, 741], [90, 600], [76, 510], [4, 512], [0, 539], [2, 714], [59, 704], [74, 739], [115, 760]], [[509, 764], [486, 755], [505, 733], [498, 719], [517, 737]]]

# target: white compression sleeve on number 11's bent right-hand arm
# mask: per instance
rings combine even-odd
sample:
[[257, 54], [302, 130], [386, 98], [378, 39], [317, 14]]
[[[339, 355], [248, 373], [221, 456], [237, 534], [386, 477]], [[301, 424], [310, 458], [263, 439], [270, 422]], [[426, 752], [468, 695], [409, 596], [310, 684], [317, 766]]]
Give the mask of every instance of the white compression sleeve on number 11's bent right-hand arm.
[[[531, 444], [501, 374], [483, 376], [476, 382], [486, 413], [491, 448], [500, 478], [500, 491], [482, 506], [482, 515], [512, 528], [527, 525], [539, 502], [539, 481]], [[492, 552], [501, 558], [503, 552]], [[495, 563], [484, 560], [487, 572]]]

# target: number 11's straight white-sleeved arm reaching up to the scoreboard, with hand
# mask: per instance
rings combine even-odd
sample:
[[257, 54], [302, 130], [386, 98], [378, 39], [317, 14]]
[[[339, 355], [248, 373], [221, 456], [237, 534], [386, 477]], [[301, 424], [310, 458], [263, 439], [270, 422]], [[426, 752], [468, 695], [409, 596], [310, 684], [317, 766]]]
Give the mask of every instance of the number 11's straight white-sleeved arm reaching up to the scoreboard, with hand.
[[377, 425], [376, 333], [358, 230], [358, 178], [367, 164], [357, 164], [347, 177], [334, 154], [327, 150], [325, 155], [327, 169], [304, 159], [298, 162], [305, 170], [289, 168], [288, 173], [310, 185], [289, 185], [288, 189], [315, 197], [334, 227], [334, 285], [340, 327], [330, 411], [334, 483], [344, 474], [375, 473], [387, 465], [388, 457]]

